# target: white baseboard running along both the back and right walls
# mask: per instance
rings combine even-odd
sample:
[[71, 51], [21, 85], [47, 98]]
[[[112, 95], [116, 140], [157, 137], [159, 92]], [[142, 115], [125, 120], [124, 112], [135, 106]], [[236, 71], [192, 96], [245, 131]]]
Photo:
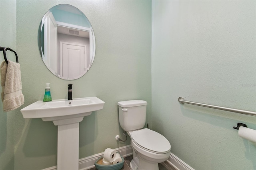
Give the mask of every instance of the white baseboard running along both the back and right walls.
[[[119, 152], [123, 157], [132, 155], [132, 146], [127, 145], [120, 148], [114, 149], [116, 152]], [[88, 156], [86, 158], [79, 159], [79, 170], [88, 170], [90, 168], [94, 168], [94, 162], [103, 156], [104, 152], [95, 154], [92, 156]], [[174, 154], [170, 154], [169, 158], [166, 160], [170, 165], [172, 165], [176, 170], [194, 170], [188, 164], [183, 162], [180, 158], [175, 156]], [[50, 168], [46, 168], [43, 170], [57, 170], [57, 166], [52, 166]]]

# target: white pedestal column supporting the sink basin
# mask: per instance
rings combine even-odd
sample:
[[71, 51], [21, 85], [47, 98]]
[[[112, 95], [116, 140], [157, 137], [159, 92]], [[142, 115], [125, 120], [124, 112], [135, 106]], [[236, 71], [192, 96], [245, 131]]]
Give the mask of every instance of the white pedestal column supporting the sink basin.
[[[74, 118], [71, 124], [66, 120], [54, 121], [54, 125], [58, 125], [58, 170], [78, 170], [79, 160], [79, 122], [84, 117]], [[68, 121], [70, 123], [70, 119]]]

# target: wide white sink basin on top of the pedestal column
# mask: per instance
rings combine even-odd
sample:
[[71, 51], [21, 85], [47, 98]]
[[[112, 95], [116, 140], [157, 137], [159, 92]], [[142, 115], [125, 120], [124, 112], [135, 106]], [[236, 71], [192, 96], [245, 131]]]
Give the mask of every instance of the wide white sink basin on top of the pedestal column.
[[[103, 109], [104, 101], [98, 97], [85, 97], [73, 100], [37, 101], [21, 109], [24, 118], [42, 118], [43, 121], [60, 121], [92, 114]], [[81, 120], [82, 121], [82, 120]], [[54, 125], [57, 125], [54, 122]]]

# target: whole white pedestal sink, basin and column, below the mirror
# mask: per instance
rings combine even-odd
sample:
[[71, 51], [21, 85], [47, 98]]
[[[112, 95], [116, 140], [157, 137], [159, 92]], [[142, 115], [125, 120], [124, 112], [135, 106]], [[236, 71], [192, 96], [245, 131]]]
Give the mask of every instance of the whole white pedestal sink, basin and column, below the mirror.
[[97, 97], [37, 101], [20, 111], [24, 118], [41, 118], [58, 126], [57, 169], [78, 170], [79, 122], [93, 111], [103, 109], [104, 103]]

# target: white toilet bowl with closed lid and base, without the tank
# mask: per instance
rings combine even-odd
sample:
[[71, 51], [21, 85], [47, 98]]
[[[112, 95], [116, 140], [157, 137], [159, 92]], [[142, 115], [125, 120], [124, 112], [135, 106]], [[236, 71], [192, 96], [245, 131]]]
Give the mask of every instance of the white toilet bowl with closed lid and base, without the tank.
[[171, 153], [169, 141], [148, 128], [128, 131], [134, 151], [130, 163], [132, 170], [158, 170], [158, 163], [168, 159]]

